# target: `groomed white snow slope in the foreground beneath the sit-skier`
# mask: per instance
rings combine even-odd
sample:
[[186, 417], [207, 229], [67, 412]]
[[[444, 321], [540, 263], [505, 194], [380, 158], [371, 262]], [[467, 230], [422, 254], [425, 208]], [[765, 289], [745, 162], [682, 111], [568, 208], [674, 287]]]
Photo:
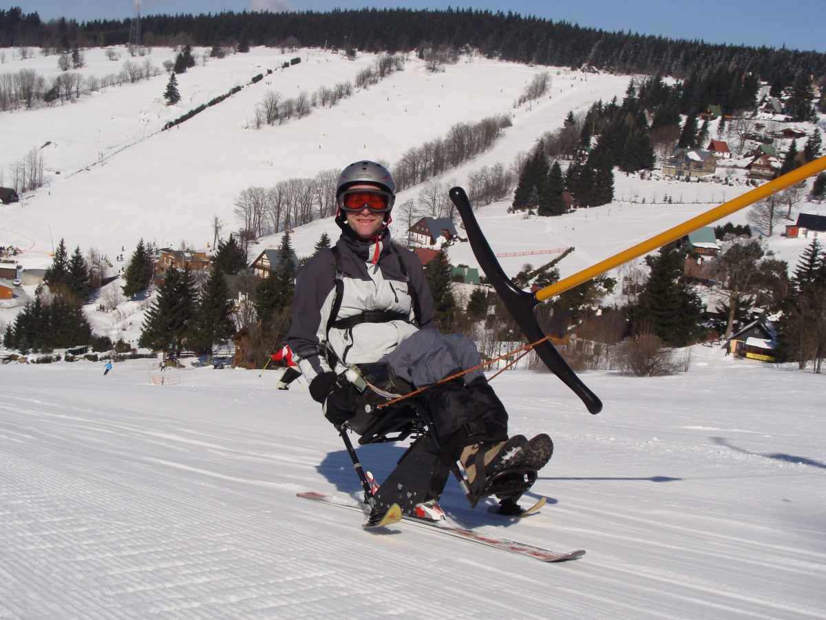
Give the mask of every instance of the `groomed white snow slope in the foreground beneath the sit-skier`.
[[[360, 487], [278, 372], [3, 366], [0, 618], [823, 618], [826, 379], [693, 356], [667, 378], [584, 375], [597, 416], [552, 375], [496, 379], [513, 432], [556, 443], [532, 494], [548, 504], [510, 523], [453, 481], [442, 503], [586, 549], [558, 565], [297, 498]], [[401, 450], [359, 449], [378, 479]]]

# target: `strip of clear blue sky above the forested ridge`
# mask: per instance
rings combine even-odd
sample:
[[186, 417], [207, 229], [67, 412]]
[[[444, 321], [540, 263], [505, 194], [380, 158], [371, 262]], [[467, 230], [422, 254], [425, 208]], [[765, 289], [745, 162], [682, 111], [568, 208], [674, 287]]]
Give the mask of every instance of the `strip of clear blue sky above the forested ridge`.
[[[123, 18], [133, 0], [0, 0], [0, 8], [23, 7], [44, 20]], [[606, 31], [632, 31], [711, 43], [744, 43], [826, 52], [826, 0], [477, 0], [476, 2], [347, 2], [346, 0], [143, 0], [141, 13], [206, 13], [247, 10], [329, 11], [340, 7], [472, 7], [513, 11], [553, 21], [570, 21]]]

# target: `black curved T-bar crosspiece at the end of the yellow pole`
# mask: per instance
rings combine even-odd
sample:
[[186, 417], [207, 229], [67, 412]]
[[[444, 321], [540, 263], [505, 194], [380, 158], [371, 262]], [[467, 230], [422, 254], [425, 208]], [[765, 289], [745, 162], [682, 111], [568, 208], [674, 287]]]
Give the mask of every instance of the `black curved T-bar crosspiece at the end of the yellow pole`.
[[562, 379], [563, 383], [573, 390], [573, 393], [577, 394], [582, 403], [585, 403], [589, 412], [600, 413], [602, 410], [601, 400], [588, 389], [586, 384], [582, 383], [582, 379], [571, 370], [563, 356], [559, 355], [556, 347], [548, 340], [542, 340], [545, 334], [542, 328], [539, 327], [535, 315], [536, 306], [540, 303], [539, 299], [532, 293], [518, 289], [502, 270], [499, 261], [496, 260], [496, 255], [491, 250], [491, 246], [482, 232], [482, 228], [479, 227], [476, 216], [473, 215], [468, 194], [465, 193], [463, 188], [452, 188], [450, 190], [450, 200], [453, 201], [459, 215], [462, 216], [465, 231], [468, 232], [468, 240], [476, 260], [487, 275], [487, 279], [493, 284], [493, 288], [496, 289], [502, 303], [505, 304], [520, 329], [525, 332], [525, 337], [529, 342], [541, 341], [534, 346], [534, 351], [539, 355], [539, 359], [548, 366], [553, 374]]

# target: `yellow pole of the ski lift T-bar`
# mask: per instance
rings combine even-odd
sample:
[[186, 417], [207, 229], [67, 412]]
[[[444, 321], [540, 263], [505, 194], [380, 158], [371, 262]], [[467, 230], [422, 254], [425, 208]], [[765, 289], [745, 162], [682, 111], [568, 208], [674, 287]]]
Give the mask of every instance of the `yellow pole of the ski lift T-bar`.
[[748, 205], [752, 203], [757, 203], [758, 200], [767, 198], [767, 196], [771, 196], [771, 194], [779, 192], [781, 189], [790, 187], [795, 183], [800, 183], [803, 179], [807, 179], [813, 174], [818, 174], [824, 169], [826, 169], [826, 155], [817, 160], [810, 161], [808, 164], [802, 165], [800, 168], [796, 168], [777, 179], [764, 183], [759, 188], [752, 189], [751, 192], [744, 193], [733, 200], [729, 200], [728, 203], [723, 203], [719, 205], [719, 207], [714, 207], [710, 211], [701, 213], [697, 217], [692, 217], [687, 222], [669, 228], [667, 231], [651, 237], [648, 241], [638, 243], [636, 246], [629, 247], [628, 250], [619, 252], [619, 254], [602, 260], [596, 265], [582, 269], [582, 271], [577, 274], [569, 275], [567, 278], [561, 279], [555, 284], [546, 286], [544, 289], [538, 290], [534, 295], [537, 301], [544, 302], [554, 295], [563, 293], [568, 289], [573, 289], [575, 286], [587, 282], [591, 278], [596, 278], [597, 275], [604, 274], [606, 271], [610, 271], [610, 269], [619, 267], [619, 265], [623, 265], [629, 260], [634, 260], [638, 258], [638, 256], [648, 254], [648, 252], [656, 250], [658, 247], [676, 241], [682, 236], [686, 236], [689, 232], [708, 226], [711, 222], [716, 222], [721, 217], [731, 215], [733, 212], [739, 211], [743, 207], [748, 207]]

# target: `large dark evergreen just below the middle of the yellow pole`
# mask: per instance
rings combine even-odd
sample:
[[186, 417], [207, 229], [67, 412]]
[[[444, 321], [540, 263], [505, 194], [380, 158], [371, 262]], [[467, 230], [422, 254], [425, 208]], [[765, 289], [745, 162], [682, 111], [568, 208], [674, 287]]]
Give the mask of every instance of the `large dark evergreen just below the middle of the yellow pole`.
[[681, 279], [683, 255], [668, 245], [646, 257], [651, 268], [629, 311], [634, 333], [650, 332], [671, 346], [686, 346], [700, 333], [700, 299]]

